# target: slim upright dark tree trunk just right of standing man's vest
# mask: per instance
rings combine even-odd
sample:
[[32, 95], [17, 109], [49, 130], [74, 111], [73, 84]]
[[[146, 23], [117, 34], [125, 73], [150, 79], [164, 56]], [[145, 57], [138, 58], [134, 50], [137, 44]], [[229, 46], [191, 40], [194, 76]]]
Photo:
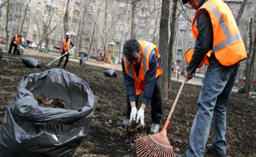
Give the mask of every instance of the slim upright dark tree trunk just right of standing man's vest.
[[249, 50], [247, 54], [247, 59], [246, 59], [246, 70], [245, 70], [245, 93], [246, 96], [249, 97], [250, 94], [250, 62], [252, 59], [251, 52], [252, 52], [252, 18], [250, 19], [250, 26], [249, 26], [249, 39], [250, 39], [250, 44], [249, 44]]

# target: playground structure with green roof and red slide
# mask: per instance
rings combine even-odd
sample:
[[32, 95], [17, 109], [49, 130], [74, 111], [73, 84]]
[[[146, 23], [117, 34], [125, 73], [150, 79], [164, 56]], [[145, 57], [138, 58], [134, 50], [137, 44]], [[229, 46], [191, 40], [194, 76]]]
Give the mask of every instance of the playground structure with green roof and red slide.
[[[113, 39], [112, 39], [113, 40]], [[121, 53], [115, 51], [116, 44], [114, 41], [111, 41], [108, 46], [108, 51], [106, 51], [100, 58], [97, 58], [96, 61], [104, 61], [110, 64], [118, 64]]]

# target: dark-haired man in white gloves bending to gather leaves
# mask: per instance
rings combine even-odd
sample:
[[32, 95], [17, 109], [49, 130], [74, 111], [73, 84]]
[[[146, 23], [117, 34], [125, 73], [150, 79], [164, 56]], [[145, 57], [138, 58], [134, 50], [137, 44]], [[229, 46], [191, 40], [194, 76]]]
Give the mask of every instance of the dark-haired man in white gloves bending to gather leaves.
[[[157, 46], [147, 41], [129, 39], [123, 45], [122, 73], [127, 95], [125, 127], [132, 120], [140, 120], [144, 127], [144, 111], [151, 100], [150, 133], [159, 131], [162, 116], [162, 60]], [[142, 104], [137, 111], [139, 94], [144, 91]]]

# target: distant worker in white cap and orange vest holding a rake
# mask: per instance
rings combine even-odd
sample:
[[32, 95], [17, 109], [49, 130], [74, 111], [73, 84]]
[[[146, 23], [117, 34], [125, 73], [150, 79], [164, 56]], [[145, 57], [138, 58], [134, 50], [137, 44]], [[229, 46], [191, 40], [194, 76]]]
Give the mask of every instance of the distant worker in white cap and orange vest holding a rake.
[[62, 40], [62, 47], [61, 47], [61, 55], [65, 54], [64, 56], [62, 56], [60, 58], [59, 64], [57, 66], [57, 68], [59, 68], [61, 66], [61, 62], [63, 61], [64, 57], [66, 57], [65, 63], [63, 65], [63, 69], [66, 68], [67, 62], [68, 62], [68, 58], [69, 58], [69, 49], [70, 49], [70, 44], [73, 46], [73, 49], [76, 49], [75, 45], [73, 44], [73, 42], [70, 40], [69, 38], [69, 33], [66, 33], [66, 39]]

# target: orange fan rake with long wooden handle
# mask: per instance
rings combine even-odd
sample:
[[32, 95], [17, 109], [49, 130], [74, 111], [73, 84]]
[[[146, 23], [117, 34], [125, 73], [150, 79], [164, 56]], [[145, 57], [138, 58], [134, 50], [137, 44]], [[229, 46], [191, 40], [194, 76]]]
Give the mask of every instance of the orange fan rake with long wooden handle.
[[141, 137], [136, 140], [136, 155], [138, 157], [175, 157], [173, 147], [170, 145], [170, 142], [167, 137], [166, 129], [170, 123], [171, 115], [173, 110], [177, 104], [177, 101], [180, 97], [180, 93], [185, 84], [185, 78], [180, 86], [180, 90], [176, 99], [171, 107], [169, 116], [165, 122], [164, 128], [161, 132], [156, 134], [148, 135], [145, 137]]

